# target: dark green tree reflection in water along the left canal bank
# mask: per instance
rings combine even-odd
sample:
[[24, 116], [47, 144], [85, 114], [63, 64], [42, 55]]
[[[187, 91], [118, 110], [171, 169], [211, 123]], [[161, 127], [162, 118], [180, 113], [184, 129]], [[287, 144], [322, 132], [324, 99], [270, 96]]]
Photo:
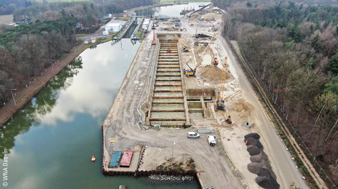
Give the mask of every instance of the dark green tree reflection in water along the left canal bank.
[[73, 83], [73, 77], [76, 76], [82, 66], [82, 58], [78, 57], [71, 64], [66, 66], [59, 74], [42, 89], [34, 100], [30, 100], [13, 119], [0, 128], [0, 158], [4, 158], [4, 150], [13, 148], [15, 137], [20, 133], [25, 133], [30, 126], [40, 124], [36, 119], [37, 115], [46, 115], [52, 112], [57, 98], [59, 98], [60, 89], [67, 89]]

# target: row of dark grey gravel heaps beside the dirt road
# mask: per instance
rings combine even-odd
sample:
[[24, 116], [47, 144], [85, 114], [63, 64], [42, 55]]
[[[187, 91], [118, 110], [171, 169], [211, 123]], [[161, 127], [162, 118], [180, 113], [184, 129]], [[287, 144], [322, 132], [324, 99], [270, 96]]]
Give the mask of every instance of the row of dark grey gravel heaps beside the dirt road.
[[267, 155], [263, 152], [263, 145], [260, 143], [260, 135], [258, 133], [250, 133], [244, 136], [244, 142], [247, 145], [251, 155], [251, 163], [248, 164], [248, 170], [253, 174], [257, 174], [256, 183], [262, 188], [279, 188], [280, 185], [276, 181], [276, 175], [272, 171]]

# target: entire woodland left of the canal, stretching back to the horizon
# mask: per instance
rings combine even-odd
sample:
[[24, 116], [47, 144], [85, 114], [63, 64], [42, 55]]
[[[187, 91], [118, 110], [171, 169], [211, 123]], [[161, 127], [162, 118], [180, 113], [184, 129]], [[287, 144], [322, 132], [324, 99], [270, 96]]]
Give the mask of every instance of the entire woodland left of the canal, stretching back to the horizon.
[[52, 60], [68, 53], [76, 44], [76, 34], [95, 32], [104, 15], [152, 4], [151, 0], [100, 0], [95, 4], [0, 0], [0, 6], [16, 2], [11, 12], [20, 25], [0, 25], [0, 106], [11, 98], [11, 89], [20, 88]]

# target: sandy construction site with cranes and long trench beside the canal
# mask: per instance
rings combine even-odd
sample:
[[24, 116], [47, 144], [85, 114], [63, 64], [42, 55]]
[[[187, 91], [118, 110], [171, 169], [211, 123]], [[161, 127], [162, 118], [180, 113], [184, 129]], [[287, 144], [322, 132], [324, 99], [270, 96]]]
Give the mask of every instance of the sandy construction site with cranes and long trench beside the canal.
[[200, 188], [308, 188], [221, 35], [223, 13], [208, 6], [152, 20], [102, 124], [103, 174], [193, 176]]

